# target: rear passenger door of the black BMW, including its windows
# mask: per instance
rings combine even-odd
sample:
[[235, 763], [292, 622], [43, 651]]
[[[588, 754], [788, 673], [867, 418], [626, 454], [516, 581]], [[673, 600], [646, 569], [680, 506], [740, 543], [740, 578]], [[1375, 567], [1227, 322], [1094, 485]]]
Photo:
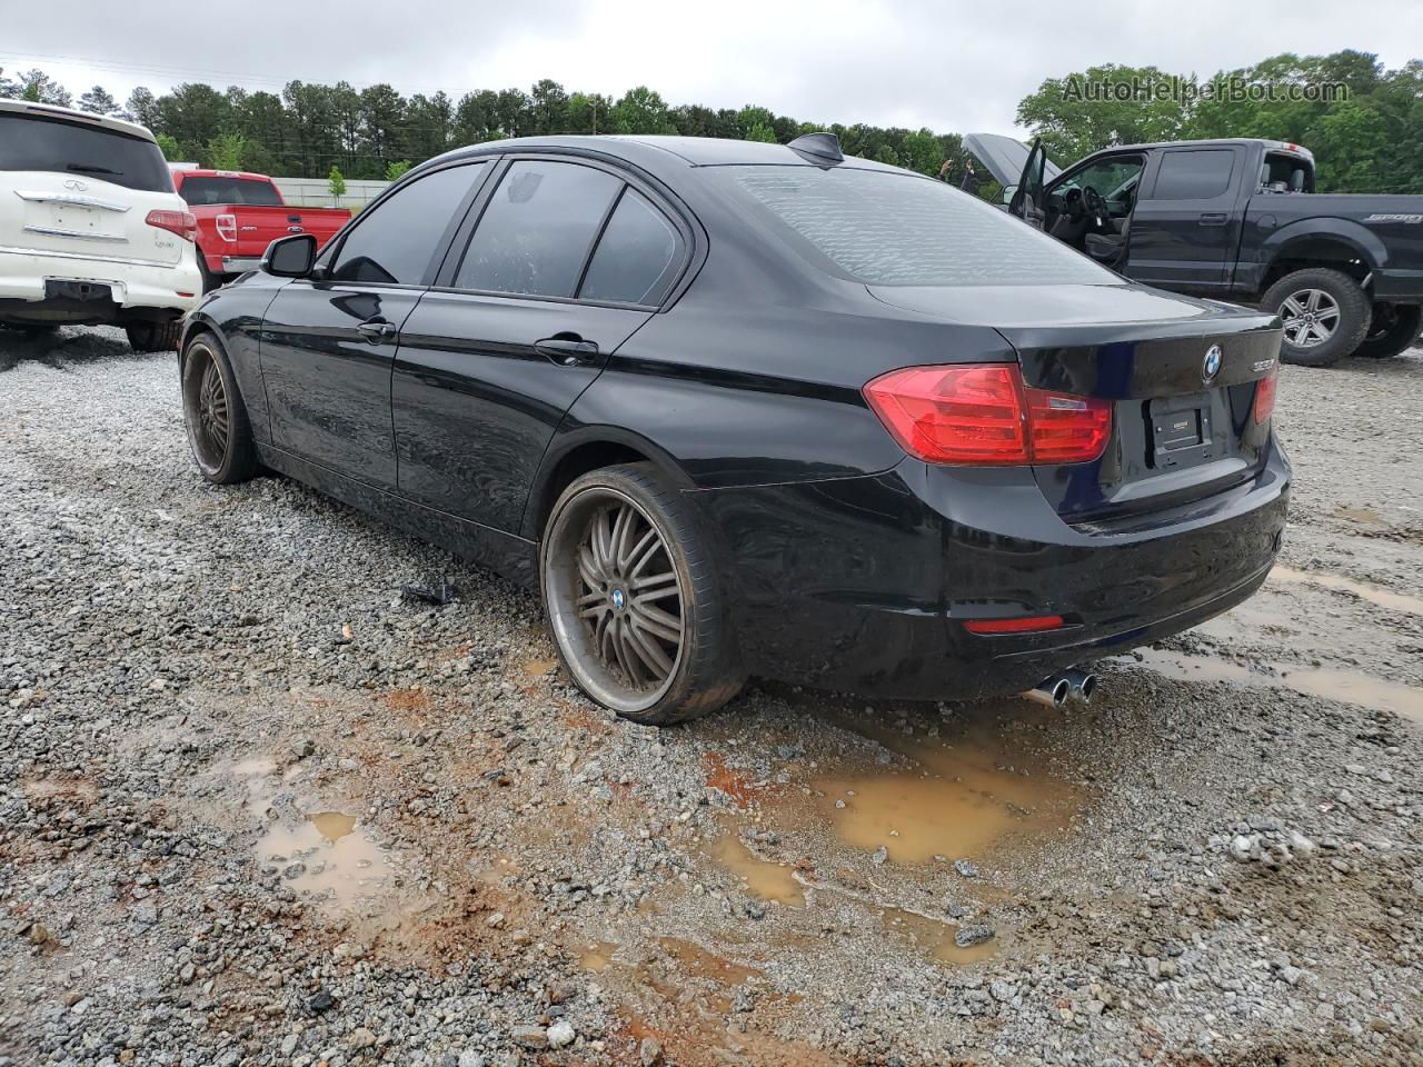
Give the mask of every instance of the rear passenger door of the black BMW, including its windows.
[[400, 491], [518, 532], [555, 428], [656, 312], [689, 230], [630, 175], [568, 156], [507, 161], [472, 215], [396, 359]]

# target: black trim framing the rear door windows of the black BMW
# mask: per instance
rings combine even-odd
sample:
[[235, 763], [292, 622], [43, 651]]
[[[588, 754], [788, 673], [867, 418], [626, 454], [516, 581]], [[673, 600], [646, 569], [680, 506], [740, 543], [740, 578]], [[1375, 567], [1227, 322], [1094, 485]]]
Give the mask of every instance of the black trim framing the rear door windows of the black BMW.
[[[490, 201], [494, 199], [494, 193], [498, 191], [499, 185], [504, 182], [504, 175], [517, 162], [561, 162], [572, 164], [575, 166], [591, 166], [596, 171], [605, 171], [613, 178], [622, 182], [618, 193], [612, 198], [608, 209], [603, 212], [603, 218], [598, 225], [598, 230], [593, 233], [593, 239], [583, 253], [583, 265], [578, 272], [578, 285], [573, 287], [573, 296], [546, 296], [544, 293], [508, 293], [502, 290], [492, 289], [467, 289], [462, 286], [455, 286], [454, 279], [460, 275], [460, 266], [464, 263], [464, 258], [470, 250], [470, 243], [474, 240], [474, 235], [484, 221], [484, 212], [490, 206]], [[656, 303], [628, 303], [622, 300], [589, 300], [579, 296], [583, 287], [583, 280], [588, 277], [588, 267], [593, 262], [593, 253], [598, 252], [598, 245], [603, 239], [603, 232], [608, 229], [608, 223], [612, 221], [613, 212], [618, 205], [622, 203], [623, 195], [628, 189], [633, 189], [642, 195], [656, 211], [672, 223], [673, 230], [677, 233], [677, 256], [680, 262], [676, 265], [670, 285], [666, 286], [663, 294]], [[703, 230], [704, 233], [704, 230]], [[495, 174], [491, 174], [485, 179], [481, 189], [481, 196], [477, 198], [474, 203], [470, 205], [467, 216], [461, 223], [460, 229], [451, 236], [450, 246], [445, 249], [444, 262], [440, 270], [435, 272], [435, 280], [428, 289], [434, 293], [464, 293], [467, 296], [494, 296], [509, 300], [539, 300], [544, 303], [561, 303], [561, 304], [579, 304], [583, 307], [613, 307], [635, 312], [665, 312], [672, 307], [673, 303], [686, 292], [687, 285], [696, 276], [696, 270], [700, 269], [702, 263], [706, 260], [706, 242], [697, 242], [694, 239], [696, 230], [687, 222], [687, 215], [672, 206], [670, 198], [663, 195], [662, 189], [652, 185], [649, 181], [635, 171], [622, 159], [612, 159], [601, 155], [591, 155], [588, 152], [579, 151], [528, 151], [528, 152], [509, 152], [499, 156], [499, 164]], [[696, 269], [693, 269], [696, 267]]]

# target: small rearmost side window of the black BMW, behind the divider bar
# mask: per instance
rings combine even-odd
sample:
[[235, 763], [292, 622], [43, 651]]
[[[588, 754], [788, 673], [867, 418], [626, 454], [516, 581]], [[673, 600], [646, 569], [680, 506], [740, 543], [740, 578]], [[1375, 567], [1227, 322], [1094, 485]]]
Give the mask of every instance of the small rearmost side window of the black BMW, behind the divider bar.
[[677, 266], [676, 228], [640, 193], [628, 189], [608, 221], [578, 296], [628, 304], [655, 304]]

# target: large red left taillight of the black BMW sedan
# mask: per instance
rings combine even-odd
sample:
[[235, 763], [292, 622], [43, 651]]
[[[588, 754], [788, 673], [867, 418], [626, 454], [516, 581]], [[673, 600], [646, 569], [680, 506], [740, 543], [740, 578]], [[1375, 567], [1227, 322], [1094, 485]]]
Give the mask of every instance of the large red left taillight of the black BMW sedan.
[[918, 460], [958, 465], [1080, 464], [1111, 435], [1111, 401], [1029, 388], [1013, 363], [906, 367], [865, 400]]

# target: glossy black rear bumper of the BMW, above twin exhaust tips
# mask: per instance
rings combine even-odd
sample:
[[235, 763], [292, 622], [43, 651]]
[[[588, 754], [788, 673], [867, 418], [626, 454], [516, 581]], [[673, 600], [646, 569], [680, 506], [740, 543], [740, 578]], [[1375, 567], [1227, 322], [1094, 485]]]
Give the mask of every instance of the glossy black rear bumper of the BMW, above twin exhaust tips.
[[[730, 558], [751, 673], [956, 700], [1022, 691], [1247, 599], [1279, 548], [1289, 467], [1272, 447], [1251, 482], [1127, 532], [1066, 525], [1030, 471], [914, 461], [871, 478], [693, 495]], [[962, 625], [1012, 615], [1067, 626], [978, 636]]]

